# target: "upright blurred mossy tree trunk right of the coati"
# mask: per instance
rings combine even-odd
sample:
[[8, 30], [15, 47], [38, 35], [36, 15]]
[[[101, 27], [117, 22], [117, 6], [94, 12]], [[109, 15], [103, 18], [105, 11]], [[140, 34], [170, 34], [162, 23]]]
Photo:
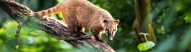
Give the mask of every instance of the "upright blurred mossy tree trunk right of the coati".
[[144, 36], [141, 32], [148, 33], [148, 40], [157, 42], [155, 33], [152, 27], [151, 0], [134, 0], [135, 2], [135, 31], [140, 42], [145, 42]]

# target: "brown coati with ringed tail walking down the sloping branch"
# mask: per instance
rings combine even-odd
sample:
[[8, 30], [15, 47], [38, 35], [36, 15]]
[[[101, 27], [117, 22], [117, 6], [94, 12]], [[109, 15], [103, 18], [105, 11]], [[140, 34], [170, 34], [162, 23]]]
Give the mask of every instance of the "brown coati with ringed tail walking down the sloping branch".
[[84, 28], [89, 28], [93, 36], [100, 41], [104, 31], [108, 39], [113, 40], [119, 24], [119, 20], [113, 19], [108, 11], [94, 6], [87, 0], [64, 0], [52, 8], [31, 15], [43, 17], [58, 12], [62, 12], [71, 34], [84, 32]]

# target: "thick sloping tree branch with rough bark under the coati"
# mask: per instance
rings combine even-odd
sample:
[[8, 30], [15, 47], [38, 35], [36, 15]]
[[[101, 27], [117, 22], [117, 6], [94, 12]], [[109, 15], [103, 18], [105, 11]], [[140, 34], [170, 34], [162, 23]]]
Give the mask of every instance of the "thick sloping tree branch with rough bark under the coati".
[[[14, 1], [0, 0], [0, 7], [9, 14], [18, 23], [26, 21], [24, 26], [31, 27], [31, 24], [35, 23], [39, 26], [37, 29], [45, 31], [49, 36], [57, 40], [64, 40], [75, 48], [89, 48], [98, 49], [103, 52], [115, 52], [106, 42], [97, 41], [94, 37], [91, 37], [83, 32], [75, 33], [71, 35], [68, 31], [67, 25], [63, 22], [50, 17], [35, 18], [28, 16], [27, 14], [33, 12], [22, 4]], [[35, 28], [35, 27], [31, 27]]]

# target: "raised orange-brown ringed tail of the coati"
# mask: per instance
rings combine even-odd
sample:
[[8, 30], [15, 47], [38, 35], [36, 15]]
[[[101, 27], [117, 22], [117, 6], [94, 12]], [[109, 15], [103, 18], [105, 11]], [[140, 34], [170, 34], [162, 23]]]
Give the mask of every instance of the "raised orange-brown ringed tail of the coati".
[[43, 16], [48, 16], [51, 14], [57, 14], [58, 12], [62, 11], [62, 6], [61, 4], [57, 4], [56, 6], [49, 8], [47, 10], [42, 10], [42, 11], [38, 11], [38, 12], [33, 12], [30, 15], [31, 16], [38, 16], [38, 17], [43, 17]]

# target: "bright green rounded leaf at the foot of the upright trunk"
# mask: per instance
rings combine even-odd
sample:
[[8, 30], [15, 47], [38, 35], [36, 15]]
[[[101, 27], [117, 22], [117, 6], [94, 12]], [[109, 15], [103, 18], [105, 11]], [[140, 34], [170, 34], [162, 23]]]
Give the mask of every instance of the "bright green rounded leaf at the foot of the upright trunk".
[[152, 42], [152, 41], [147, 41], [147, 42], [140, 43], [140, 44], [138, 45], [138, 49], [139, 49], [140, 51], [146, 51], [146, 50], [151, 49], [151, 48], [154, 47], [154, 46], [155, 46], [155, 43], [154, 43], [154, 42]]

